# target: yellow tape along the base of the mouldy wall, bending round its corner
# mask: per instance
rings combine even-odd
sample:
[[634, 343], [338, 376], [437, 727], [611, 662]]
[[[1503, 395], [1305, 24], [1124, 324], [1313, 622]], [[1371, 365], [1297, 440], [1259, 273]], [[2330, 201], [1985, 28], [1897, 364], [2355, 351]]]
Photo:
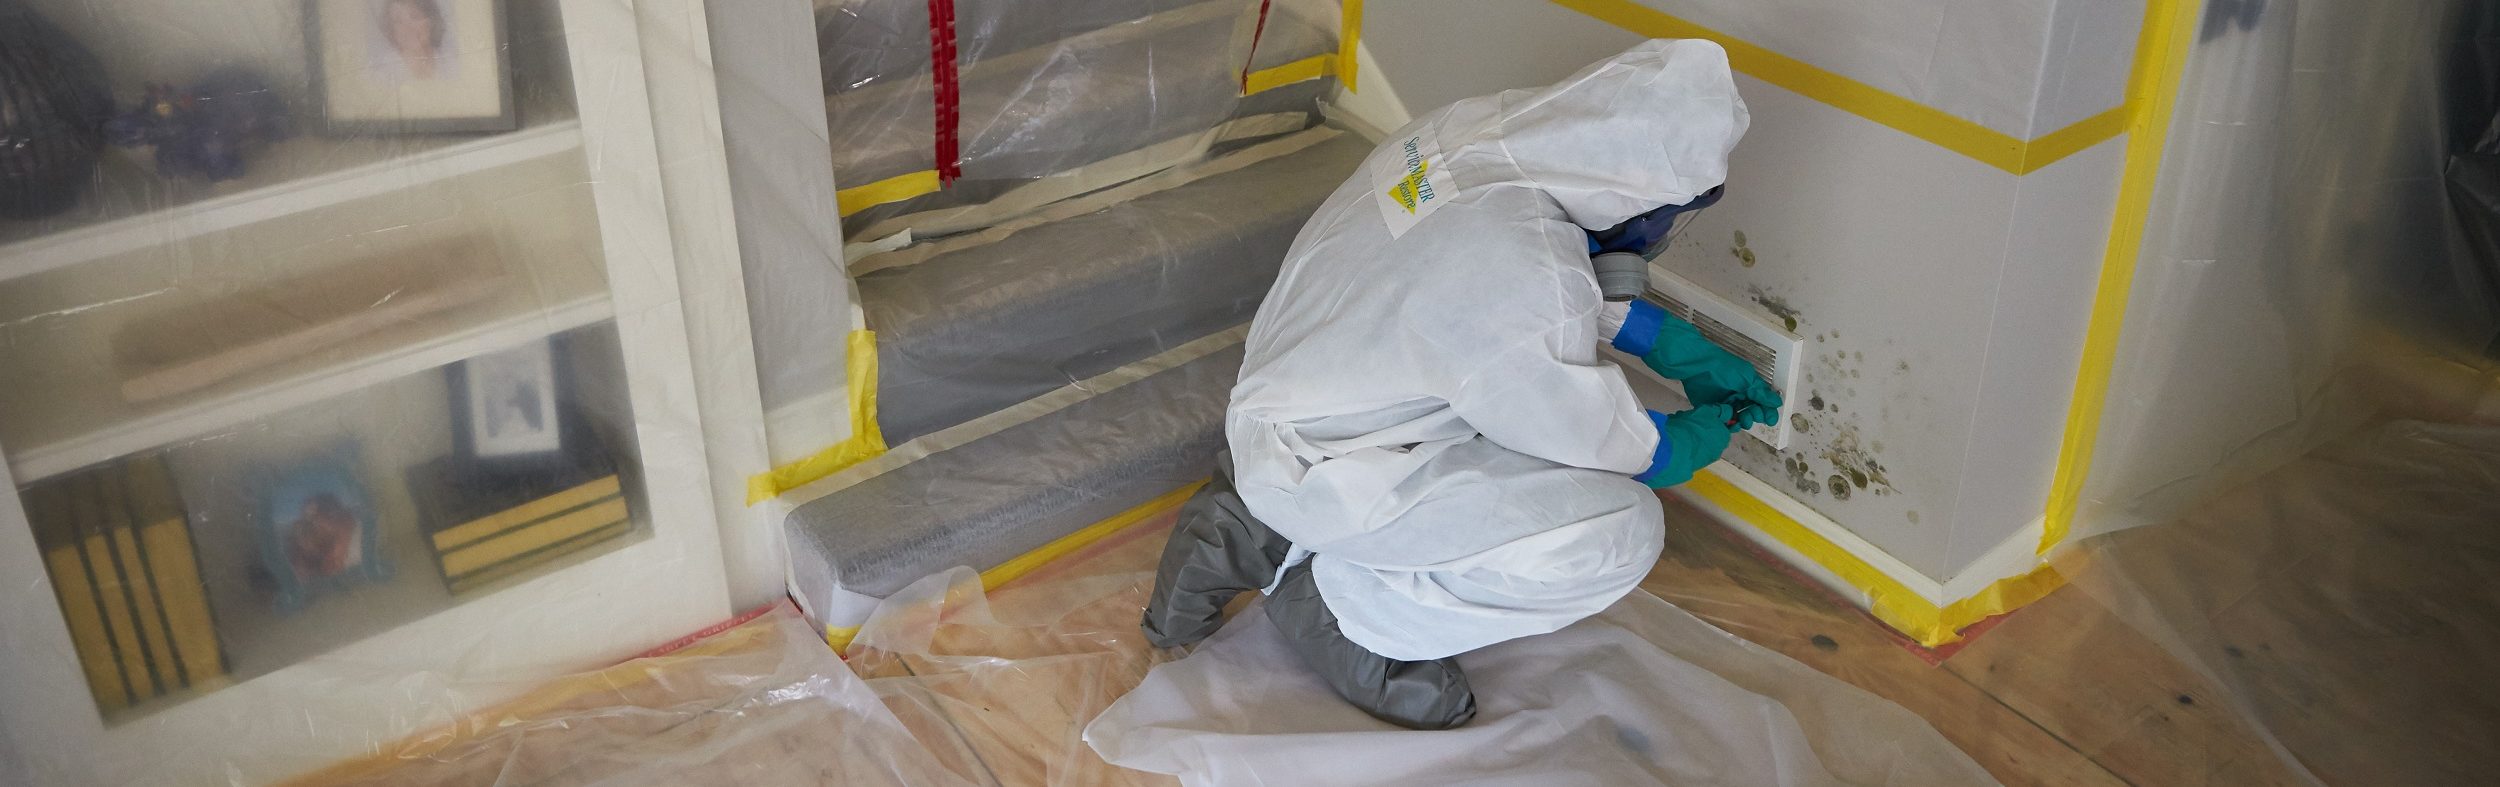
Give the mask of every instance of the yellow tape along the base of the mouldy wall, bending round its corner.
[[1900, 580], [1892, 580], [1882, 570], [1858, 560], [1858, 555], [1850, 555], [1840, 545], [1815, 535], [1802, 522], [1790, 520], [1780, 510], [1748, 495], [1745, 490], [1738, 490], [1710, 470], [1695, 472], [1692, 480], [1685, 482], [1685, 490], [1832, 572], [1840, 582], [1868, 597], [1868, 612], [1872, 612], [1875, 620], [1908, 635], [1922, 647], [1960, 642], [1965, 627], [2038, 602], [2065, 585], [2065, 575], [2050, 565], [2040, 565], [2025, 575], [1990, 582], [1965, 600], [1938, 607], [1908, 585], [1900, 585]]

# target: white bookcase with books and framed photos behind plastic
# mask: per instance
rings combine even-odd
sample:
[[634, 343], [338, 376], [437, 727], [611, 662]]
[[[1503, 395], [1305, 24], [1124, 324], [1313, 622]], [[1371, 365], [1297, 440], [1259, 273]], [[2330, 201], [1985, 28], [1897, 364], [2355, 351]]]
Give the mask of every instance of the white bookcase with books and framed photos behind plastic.
[[[705, 435], [762, 415], [698, 410], [720, 370], [698, 365], [688, 290], [738, 290], [740, 267], [735, 237], [730, 265], [680, 262], [718, 242], [682, 242], [675, 212], [725, 215], [728, 195], [665, 187], [672, 120], [650, 95], [710, 72], [685, 52], [645, 60], [685, 35], [648, 20], [700, 12], [432, 2], [460, 30], [442, 40], [505, 42], [460, 50], [460, 75], [508, 62], [508, 127], [328, 132], [312, 92], [328, 50], [308, 32], [372, 2], [25, 0], [100, 60], [120, 107], [140, 82], [242, 65], [298, 132], [250, 147], [230, 180], [110, 147], [75, 205], [0, 220], [12, 772], [285, 780], [732, 612]], [[335, 27], [358, 32], [342, 45], [365, 42], [358, 25]], [[718, 127], [718, 107], [672, 112]], [[702, 142], [722, 155], [718, 135]], [[715, 322], [745, 340], [742, 312]], [[150, 377], [168, 365], [195, 372]], [[542, 475], [548, 445], [595, 455], [598, 522], [518, 520], [468, 542], [450, 577], [438, 502], [492, 487], [502, 497], [455, 507], [480, 517], [582, 485]], [[450, 457], [465, 475], [410, 485]], [[480, 547], [495, 537], [510, 542]], [[440, 700], [412, 705], [410, 685]]]

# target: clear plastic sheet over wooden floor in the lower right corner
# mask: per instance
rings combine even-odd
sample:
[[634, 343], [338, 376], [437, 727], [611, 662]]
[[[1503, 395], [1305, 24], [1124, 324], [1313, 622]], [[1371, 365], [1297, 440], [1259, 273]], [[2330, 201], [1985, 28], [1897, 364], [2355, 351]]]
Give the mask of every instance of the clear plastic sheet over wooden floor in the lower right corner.
[[2475, 785], [2500, 767], [2492, 522], [2500, 425], [2385, 422], [2088, 542], [2068, 592], [2222, 687], [2320, 782]]

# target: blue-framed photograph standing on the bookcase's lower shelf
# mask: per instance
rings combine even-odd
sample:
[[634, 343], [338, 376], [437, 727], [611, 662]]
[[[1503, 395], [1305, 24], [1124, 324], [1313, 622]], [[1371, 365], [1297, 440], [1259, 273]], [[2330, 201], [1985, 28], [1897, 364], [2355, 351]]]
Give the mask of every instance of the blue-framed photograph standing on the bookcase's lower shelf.
[[275, 580], [278, 612], [295, 612], [318, 595], [382, 580], [380, 522], [355, 475], [358, 447], [285, 467], [260, 490], [260, 567]]

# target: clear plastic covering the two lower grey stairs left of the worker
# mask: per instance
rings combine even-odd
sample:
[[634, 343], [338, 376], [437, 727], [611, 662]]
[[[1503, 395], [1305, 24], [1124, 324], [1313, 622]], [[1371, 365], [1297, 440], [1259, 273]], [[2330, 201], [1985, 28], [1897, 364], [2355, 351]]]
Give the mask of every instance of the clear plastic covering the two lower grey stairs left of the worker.
[[1240, 365], [1222, 350], [1238, 335], [1208, 342], [1250, 320], [1368, 150], [1300, 130], [852, 260], [895, 450], [792, 492], [808, 612], [855, 625], [928, 572], [992, 567], [1202, 480]]

